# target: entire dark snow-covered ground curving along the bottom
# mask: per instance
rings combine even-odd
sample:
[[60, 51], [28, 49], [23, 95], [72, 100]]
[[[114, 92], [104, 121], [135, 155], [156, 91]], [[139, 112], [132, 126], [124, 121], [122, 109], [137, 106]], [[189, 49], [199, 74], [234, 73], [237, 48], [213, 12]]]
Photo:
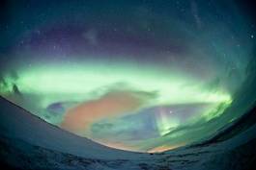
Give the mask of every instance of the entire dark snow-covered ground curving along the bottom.
[[[236, 129], [244, 124], [247, 122], [240, 122]], [[0, 165], [14, 169], [249, 169], [256, 158], [256, 124], [250, 123], [243, 130], [236, 135], [224, 133], [230, 137], [223, 141], [159, 154], [132, 153], [70, 134], [0, 98]]]

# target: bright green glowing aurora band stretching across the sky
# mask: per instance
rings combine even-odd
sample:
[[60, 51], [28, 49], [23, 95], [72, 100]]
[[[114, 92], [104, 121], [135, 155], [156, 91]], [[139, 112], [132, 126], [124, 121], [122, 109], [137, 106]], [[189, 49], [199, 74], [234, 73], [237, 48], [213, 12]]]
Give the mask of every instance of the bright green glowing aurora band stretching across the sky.
[[[131, 90], [146, 95], [147, 100], [139, 110], [167, 105], [211, 104], [200, 114], [200, 118], [203, 117], [208, 121], [219, 116], [232, 102], [231, 96], [224, 90], [208, 89], [204, 83], [185, 77], [185, 75], [170, 74], [156, 67], [154, 69], [147, 66], [138, 68], [128, 64], [119, 64], [118, 66], [88, 62], [70, 64], [69, 66], [65, 64], [43, 66], [42, 64], [18, 70], [18, 78], [15, 79], [7, 75], [4, 77], [4, 82], [0, 84], [1, 95], [11, 95], [14, 93], [13, 85], [16, 85], [21, 94], [41, 96], [42, 100], [37, 101], [38, 104], [36, 104], [40, 109], [45, 109], [56, 101], [82, 103], [100, 99], [101, 96], [112, 90]], [[216, 109], [219, 105], [224, 107]], [[29, 110], [35, 112], [33, 109]], [[42, 112], [42, 110], [36, 111]], [[137, 111], [131, 110], [126, 114]], [[121, 112], [120, 114], [125, 113]], [[41, 116], [40, 113], [38, 115]], [[101, 117], [100, 120], [102, 118], [104, 117]], [[58, 126], [63, 121], [63, 119], [45, 120]], [[159, 116], [156, 116], [156, 125], [159, 135], [163, 136], [179, 127], [180, 122], [159, 112]]]

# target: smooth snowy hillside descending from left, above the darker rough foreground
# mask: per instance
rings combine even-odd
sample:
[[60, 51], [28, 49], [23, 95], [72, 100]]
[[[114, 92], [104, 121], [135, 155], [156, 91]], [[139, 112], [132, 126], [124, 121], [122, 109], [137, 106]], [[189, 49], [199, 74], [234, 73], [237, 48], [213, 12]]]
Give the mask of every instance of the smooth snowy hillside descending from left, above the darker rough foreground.
[[85, 158], [137, 158], [131, 153], [102, 146], [87, 138], [54, 127], [35, 115], [0, 98], [0, 134], [32, 145]]

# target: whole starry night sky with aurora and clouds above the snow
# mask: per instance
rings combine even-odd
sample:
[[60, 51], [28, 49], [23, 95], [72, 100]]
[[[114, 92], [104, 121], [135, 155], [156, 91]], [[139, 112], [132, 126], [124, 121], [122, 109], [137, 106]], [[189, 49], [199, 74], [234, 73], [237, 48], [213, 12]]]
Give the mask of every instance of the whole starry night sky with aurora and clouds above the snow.
[[245, 79], [255, 31], [235, 3], [9, 6], [0, 94], [53, 125], [107, 146], [157, 152], [236, 118], [221, 115]]

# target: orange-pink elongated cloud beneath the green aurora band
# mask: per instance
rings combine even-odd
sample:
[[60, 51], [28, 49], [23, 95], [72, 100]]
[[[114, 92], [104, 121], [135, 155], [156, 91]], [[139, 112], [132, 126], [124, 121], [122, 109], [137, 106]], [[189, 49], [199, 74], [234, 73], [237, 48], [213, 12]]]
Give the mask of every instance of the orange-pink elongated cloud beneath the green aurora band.
[[132, 90], [113, 90], [70, 109], [61, 127], [74, 134], [90, 133], [90, 126], [103, 118], [124, 115], [141, 109], [156, 95]]

